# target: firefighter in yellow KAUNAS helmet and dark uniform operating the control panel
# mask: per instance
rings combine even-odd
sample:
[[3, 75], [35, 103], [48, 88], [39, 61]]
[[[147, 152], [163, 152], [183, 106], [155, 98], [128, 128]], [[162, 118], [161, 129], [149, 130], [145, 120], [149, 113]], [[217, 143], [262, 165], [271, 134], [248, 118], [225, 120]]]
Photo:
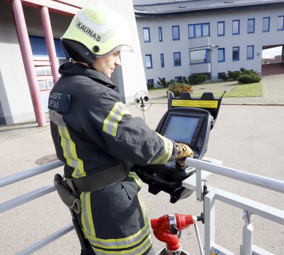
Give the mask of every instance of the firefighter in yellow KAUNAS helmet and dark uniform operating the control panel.
[[81, 9], [61, 37], [73, 61], [60, 66], [48, 108], [56, 154], [76, 197], [71, 204], [65, 200], [76, 211], [81, 254], [154, 254], [142, 183], [127, 162], [163, 164], [193, 156], [186, 145], [133, 118], [114, 90], [109, 78], [121, 66], [120, 52], [133, 52], [130, 38], [124, 19], [101, 6]]

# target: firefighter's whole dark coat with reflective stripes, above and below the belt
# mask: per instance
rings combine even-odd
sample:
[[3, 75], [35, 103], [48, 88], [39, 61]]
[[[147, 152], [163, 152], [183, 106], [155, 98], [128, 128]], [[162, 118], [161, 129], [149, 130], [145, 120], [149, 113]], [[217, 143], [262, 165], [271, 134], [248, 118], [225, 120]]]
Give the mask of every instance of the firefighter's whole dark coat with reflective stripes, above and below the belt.
[[[176, 145], [133, 118], [105, 75], [82, 64], [60, 66], [62, 76], [50, 92], [50, 126], [57, 157], [67, 178], [80, 178], [129, 160], [162, 164], [176, 156]], [[81, 192], [77, 221], [97, 255], [146, 255], [150, 224], [130, 172], [121, 182]]]

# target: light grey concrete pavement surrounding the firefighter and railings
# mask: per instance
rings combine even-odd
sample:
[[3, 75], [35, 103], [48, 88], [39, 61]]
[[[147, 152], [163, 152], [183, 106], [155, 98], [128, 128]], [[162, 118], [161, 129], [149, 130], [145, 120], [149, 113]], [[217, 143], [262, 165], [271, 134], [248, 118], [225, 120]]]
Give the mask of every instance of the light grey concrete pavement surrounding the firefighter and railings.
[[[265, 77], [269, 80], [269, 76]], [[266, 95], [267, 99], [272, 100], [267, 102], [284, 102], [283, 78], [281, 75], [273, 76], [270, 85], [269, 81], [263, 85], [263, 88], [266, 86], [269, 91], [282, 95], [282, 99]], [[276, 79], [280, 84], [275, 85]], [[128, 105], [127, 108], [134, 117], [142, 117], [135, 105]], [[156, 128], [166, 110], [165, 103], [158, 103], [145, 112], [150, 128]], [[284, 181], [284, 119], [281, 116], [284, 116], [284, 107], [222, 105], [205, 156], [223, 160], [225, 166]], [[0, 139], [0, 178], [35, 167], [35, 161], [40, 157], [55, 154], [49, 126], [39, 128], [35, 120], [0, 127]], [[63, 168], [1, 188], [0, 203], [49, 185], [55, 173], [62, 174]], [[213, 174], [208, 177], [208, 185], [284, 210], [283, 194], [271, 190]], [[147, 185], [144, 184], [142, 196], [149, 218], [167, 213], [200, 215], [203, 210], [203, 204], [196, 201], [195, 193], [170, 204], [168, 194], [160, 192], [154, 196], [147, 192]], [[216, 243], [234, 253], [239, 253], [244, 225], [242, 215], [240, 209], [221, 202], [216, 204]], [[69, 211], [55, 192], [2, 213], [0, 254], [15, 254], [70, 222]], [[198, 226], [204, 244], [204, 226], [201, 223]], [[253, 229], [255, 245], [274, 254], [283, 254], [284, 226], [255, 215]], [[184, 250], [192, 255], [199, 254], [193, 227], [182, 231], [181, 241]], [[155, 238], [153, 244], [156, 252], [164, 246]], [[34, 254], [79, 254], [79, 242], [72, 231]]]

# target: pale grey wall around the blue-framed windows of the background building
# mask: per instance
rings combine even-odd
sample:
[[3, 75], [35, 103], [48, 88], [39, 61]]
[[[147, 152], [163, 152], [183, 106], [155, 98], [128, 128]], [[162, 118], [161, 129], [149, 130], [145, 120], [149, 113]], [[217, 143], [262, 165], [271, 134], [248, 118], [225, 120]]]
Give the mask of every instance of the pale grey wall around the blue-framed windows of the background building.
[[[283, 6], [283, 5], [282, 5]], [[284, 7], [255, 8], [249, 10], [202, 12], [167, 17], [136, 17], [141, 44], [146, 79], [166, 80], [175, 76], [188, 76], [190, 72], [189, 48], [199, 47], [188, 39], [188, 24], [210, 23], [210, 43], [225, 48], [225, 62], [218, 63], [218, 50], [212, 52], [213, 78], [228, 70], [237, 71], [240, 67], [261, 73], [261, 52], [264, 45], [284, 44], [284, 31], [277, 31], [278, 16], [283, 15]], [[270, 17], [270, 31], [262, 32], [263, 17]], [[247, 34], [247, 19], [255, 18], [255, 33]], [[232, 35], [232, 21], [240, 20], [240, 34]], [[217, 22], [225, 21], [225, 36], [217, 36]], [[179, 25], [180, 40], [172, 40], [172, 26]], [[144, 42], [143, 27], [150, 27], [151, 42]], [[162, 27], [163, 42], [159, 42], [158, 27]], [[247, 60], [247, 46], [254, 45], [254, 59]], [[202, 45], [203, 46], [203, 45]], [[232, 47], [240, 47], [240, 60], [232, 61]], [[174, 66], [173, 52], [181, 52], [181, 66]], [[257, 56], [257, 52], [260, 53]], [[164, 54], [165, 67], [161, 67], [160, 53]], [[152, 54], [153, 68], [146, 69], [145, 54]], [[197, 66], [197, 65], [195, 65]]]

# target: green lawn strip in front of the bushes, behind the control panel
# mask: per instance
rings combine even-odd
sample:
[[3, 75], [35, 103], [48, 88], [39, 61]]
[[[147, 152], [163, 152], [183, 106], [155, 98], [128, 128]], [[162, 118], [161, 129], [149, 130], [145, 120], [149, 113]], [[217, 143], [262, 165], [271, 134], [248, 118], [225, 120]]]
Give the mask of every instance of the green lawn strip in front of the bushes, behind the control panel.
[[[221, 97], [223, 93], [214, 93], [215, 97]], [[201, 97], [202, 93], [192, 94], [192, 97]], [[227, 92], [224, 97], [249, 97], [249, 96], [263, 96], [262, 83], [250, 83], [250, 84], [237, 84]]]

